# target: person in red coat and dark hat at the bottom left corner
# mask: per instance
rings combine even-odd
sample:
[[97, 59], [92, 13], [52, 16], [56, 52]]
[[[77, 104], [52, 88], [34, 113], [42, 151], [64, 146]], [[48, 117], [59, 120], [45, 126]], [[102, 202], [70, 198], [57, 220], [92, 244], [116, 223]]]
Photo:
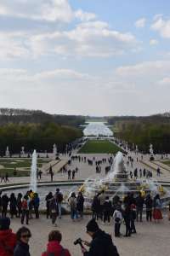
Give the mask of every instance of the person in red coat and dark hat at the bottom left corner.
[[16, 246], [16, 235], [9, 229], [10, 219], [0, 218], [0, 255], [13, 256]]

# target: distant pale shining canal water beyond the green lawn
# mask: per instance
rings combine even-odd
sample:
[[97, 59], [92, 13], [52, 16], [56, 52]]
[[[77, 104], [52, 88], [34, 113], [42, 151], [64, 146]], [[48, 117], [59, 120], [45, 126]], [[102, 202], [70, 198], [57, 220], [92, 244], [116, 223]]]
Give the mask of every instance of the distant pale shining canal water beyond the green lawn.
[[83, 131], [84, 136], [106, 136], [112, 137], [113, 132], [102, 122], [90, 122]]

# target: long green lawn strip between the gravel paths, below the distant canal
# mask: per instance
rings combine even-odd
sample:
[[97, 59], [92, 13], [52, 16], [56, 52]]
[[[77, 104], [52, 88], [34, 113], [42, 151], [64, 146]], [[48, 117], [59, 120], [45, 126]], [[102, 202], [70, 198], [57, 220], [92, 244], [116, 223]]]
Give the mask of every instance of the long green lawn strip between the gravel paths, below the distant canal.
[[122, 148], [116, 146], [116, 144], [109, 141], [102, 140], [88, 140], [87, 143], [79, 150], [78, 153], [82, 154], [116, 154], [118, 151], [122, 151]]

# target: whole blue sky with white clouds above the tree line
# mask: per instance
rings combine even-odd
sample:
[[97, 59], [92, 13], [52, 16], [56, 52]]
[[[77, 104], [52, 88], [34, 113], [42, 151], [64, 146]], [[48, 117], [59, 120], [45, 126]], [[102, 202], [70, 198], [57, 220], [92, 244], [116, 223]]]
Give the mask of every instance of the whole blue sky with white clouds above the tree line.
[[170, 1], [1, 0], [0, 108], [170, 110]]

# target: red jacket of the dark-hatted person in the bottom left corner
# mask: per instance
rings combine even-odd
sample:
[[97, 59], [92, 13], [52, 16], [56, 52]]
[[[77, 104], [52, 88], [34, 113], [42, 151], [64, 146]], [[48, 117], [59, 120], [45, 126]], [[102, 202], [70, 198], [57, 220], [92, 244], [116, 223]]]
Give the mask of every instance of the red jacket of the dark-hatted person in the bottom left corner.
[[0, 230], [0, 255], [13, 256], [16, 246], [16, 235], [12, 230]]

